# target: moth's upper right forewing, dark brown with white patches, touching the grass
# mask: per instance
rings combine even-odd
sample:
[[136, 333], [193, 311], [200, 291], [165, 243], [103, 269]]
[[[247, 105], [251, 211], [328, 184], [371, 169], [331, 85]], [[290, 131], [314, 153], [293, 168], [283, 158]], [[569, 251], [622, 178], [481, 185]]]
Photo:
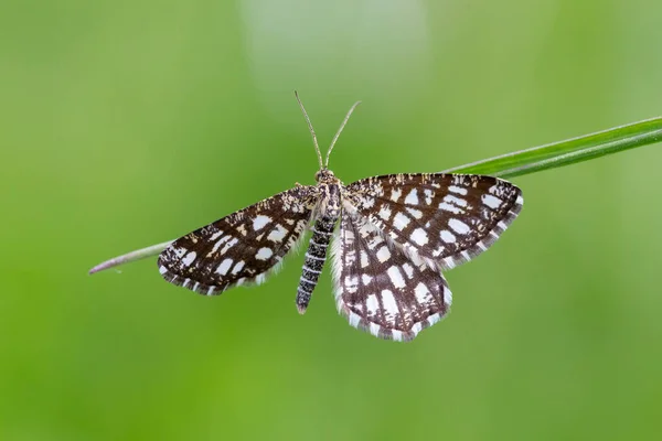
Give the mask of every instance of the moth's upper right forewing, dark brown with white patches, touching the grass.
[[405, 251], [450, 269], [488, 249], [515, 219], [522, 192], [498, 178], [391, 174], [356, 181], [344, 197]]

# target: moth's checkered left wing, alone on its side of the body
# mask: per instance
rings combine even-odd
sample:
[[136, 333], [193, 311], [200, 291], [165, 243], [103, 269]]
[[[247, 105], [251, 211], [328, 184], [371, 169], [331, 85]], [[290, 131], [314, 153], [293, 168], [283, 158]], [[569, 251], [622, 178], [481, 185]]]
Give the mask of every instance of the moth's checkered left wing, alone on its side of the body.
[[235, 212], [173, 241], [159, 256], [159, 271], [206, 295], [260, 283], [302, 237], [314, 201], [314, 187], [300, 185]]

